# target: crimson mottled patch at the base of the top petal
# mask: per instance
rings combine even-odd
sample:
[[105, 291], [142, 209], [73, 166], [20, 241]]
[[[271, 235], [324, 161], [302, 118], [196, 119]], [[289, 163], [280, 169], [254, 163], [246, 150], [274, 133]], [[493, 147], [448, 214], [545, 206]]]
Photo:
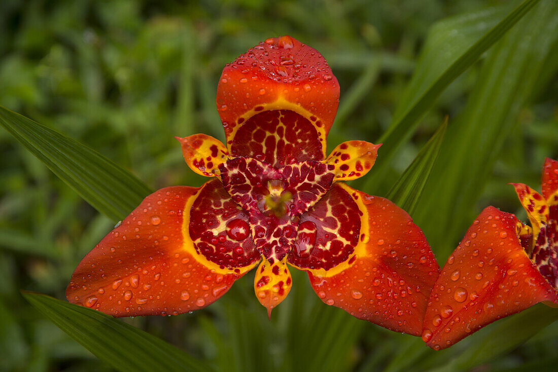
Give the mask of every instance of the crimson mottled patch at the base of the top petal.
[[235, 134], [231, 150], [234, 156], [253, 157], [275, 167], [288, 164], [291, 158], [324, 158], [314, 125], [290, 110], [264, 111], [246, 120]]

